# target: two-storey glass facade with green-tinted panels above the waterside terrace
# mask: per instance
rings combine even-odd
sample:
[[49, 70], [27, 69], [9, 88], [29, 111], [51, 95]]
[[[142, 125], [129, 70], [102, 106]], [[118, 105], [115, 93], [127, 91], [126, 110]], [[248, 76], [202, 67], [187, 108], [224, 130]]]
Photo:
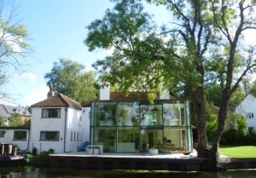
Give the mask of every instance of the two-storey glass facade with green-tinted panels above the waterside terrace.
[[90, 144], [103, 152], [183, 152], [192, 150], [189, 101], [94, 101]]

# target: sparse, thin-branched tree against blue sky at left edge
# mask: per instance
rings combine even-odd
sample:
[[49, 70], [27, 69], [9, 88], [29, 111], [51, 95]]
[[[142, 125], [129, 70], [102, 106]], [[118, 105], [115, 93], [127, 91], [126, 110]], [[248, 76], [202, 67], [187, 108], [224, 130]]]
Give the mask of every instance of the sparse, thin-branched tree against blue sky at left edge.
[[3, 89], [8, 82], [6, 72], [24, 72], [25, 58], [32, 53], [26, 26], [17, 17], [15, 2], [0, 0], [0, 98], [7, 97]]

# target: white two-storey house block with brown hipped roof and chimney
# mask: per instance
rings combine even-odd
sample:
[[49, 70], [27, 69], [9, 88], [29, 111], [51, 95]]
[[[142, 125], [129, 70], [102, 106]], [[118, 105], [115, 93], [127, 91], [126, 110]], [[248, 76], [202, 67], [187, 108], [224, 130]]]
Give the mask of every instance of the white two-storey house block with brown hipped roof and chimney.
[[[50, 92], [49, 92], [50, 93]], [[76, 152], [83, 143], [82, 107], [66, 95], [49, 95], [32, 107], [29, 151]]]

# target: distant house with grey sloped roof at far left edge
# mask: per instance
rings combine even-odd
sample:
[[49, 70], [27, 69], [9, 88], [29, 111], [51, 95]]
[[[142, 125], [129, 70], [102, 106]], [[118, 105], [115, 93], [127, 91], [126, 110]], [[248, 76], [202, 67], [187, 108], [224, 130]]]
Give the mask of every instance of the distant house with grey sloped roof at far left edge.
[[27, 110], [27, 107], [0, 105], [0, 118], [3, 119], [5, 125], [9, 125], [9, 119], [14, 113], [20, 114], [23, 123], [26, 123], [31, 118], [31, 113]]

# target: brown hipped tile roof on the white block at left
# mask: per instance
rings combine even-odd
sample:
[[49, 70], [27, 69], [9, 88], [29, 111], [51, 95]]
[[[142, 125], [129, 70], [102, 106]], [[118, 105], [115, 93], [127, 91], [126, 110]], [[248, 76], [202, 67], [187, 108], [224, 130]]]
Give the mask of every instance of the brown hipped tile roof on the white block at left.
[[31, 107], [53, 107], [53, 106], [73, 106], [78, 110], [82, 110], [79, 102], [68, 98], [66, 95], [56, 94], [49, 96], [46, 100], [42, 100]]

